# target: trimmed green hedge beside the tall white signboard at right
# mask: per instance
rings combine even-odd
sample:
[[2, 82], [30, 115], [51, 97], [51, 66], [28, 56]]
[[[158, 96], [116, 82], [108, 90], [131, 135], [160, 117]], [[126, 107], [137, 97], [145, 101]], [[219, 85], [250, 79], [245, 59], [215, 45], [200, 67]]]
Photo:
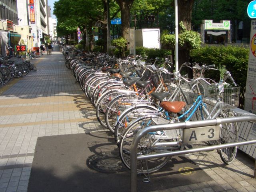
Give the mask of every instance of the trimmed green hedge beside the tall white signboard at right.
[[[249, 48], [238, 46], [206, 46], [190, 51], [192, 61], [199, 65], [215, 64], [216, 67], [226, 69], [231, 72], [235, 82], [240, 86], [240, 107], [244, 106], [244, 94], [246, 88], [246, 76], [249, 58]], [[209, 70], [209, 78], [218, 81], [219, 74]]]

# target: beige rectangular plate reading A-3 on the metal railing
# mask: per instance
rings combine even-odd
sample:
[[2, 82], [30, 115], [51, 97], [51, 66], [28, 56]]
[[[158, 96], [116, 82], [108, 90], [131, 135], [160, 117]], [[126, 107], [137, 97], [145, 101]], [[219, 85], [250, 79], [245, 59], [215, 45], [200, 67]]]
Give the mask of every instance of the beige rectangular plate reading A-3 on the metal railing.
[[183, 143], [220, 139], [220, 125], [183, 129]]

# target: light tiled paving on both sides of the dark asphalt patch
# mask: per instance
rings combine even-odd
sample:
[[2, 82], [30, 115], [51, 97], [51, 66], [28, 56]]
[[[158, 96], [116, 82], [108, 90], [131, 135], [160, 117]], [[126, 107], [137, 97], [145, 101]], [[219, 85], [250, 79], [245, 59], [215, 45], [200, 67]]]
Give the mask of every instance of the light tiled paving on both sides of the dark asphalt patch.
[[[52, 55], [31, 62], [37, 72], [0, 87], [0, 192], [27, 191], [38, 137], [102, 129], [57, 46]], [[240, 152], [228, 166], [216, 151], [190, 158], [213, 180], [188, 186], [180, 183], [164, 192], [256, 191], [254, 160], [246, 154]]]

